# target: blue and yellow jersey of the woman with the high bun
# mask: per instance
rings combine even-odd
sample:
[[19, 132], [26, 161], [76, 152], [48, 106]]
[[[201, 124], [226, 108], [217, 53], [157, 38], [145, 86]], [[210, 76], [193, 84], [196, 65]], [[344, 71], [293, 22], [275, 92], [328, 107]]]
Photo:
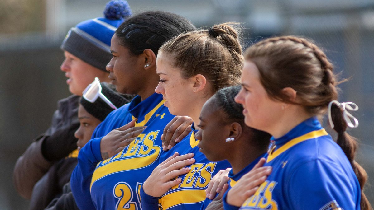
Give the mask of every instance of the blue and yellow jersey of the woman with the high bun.
[[[192, 125], [193, 128], [193, 125]], [[169, 189], [162, 197], [151, 197], [144, 193], [141, 189], [142, 209], [157, 209], [160, 210], [189, 210], [200, 209], [205, 200], [205, 189], [208, 188], [208, 183], [212, 177], [222, 169], [227, 169], [230, 166], [228, 161], [211, 162], [206, 159], [205, 155], [199, 151], [196, 140], [192, 131], [180, 143], [177, 143], [173, 148], [167, 152], [162, 152], [159, 163], [162, 163], [167, 158], [172, 156], [175, 152], [180, 155], [194, 153], [195, 163], [186, 166], [190, 171], [176, 178], [181, 178], [182, 181]]]

